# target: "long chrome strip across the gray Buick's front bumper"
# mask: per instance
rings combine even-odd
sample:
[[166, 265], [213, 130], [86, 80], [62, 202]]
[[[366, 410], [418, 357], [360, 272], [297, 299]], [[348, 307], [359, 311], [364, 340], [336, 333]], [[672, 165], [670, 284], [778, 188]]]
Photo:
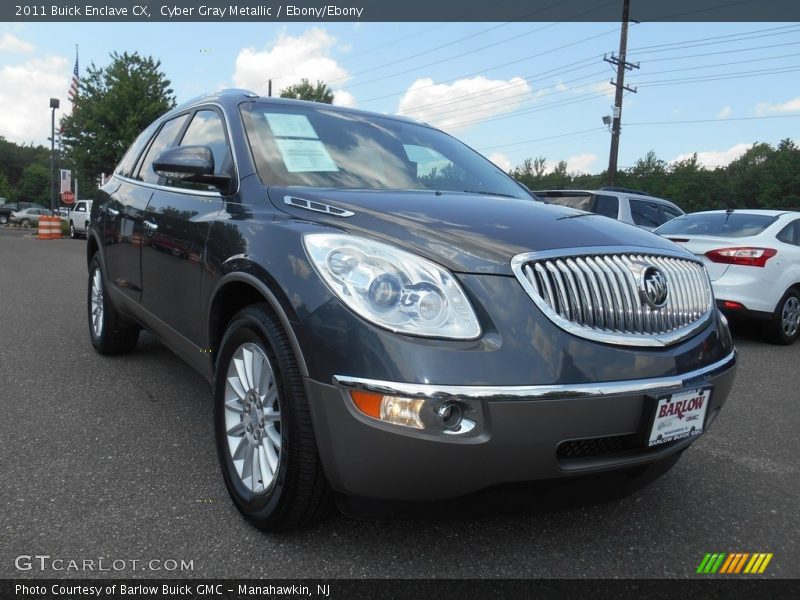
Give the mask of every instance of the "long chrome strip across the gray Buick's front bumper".
[[459, 386], [424, 383], [397, 383], [334, 375], [333, 383], [342, 387], [377, 394], [425, 398], [426, 400], [470, 399], [470, 400], [558, 400], [593, 398], [617, 394], [641, 394], [654, 390], [668, 391], [693, 385], [702, 385], [712, 377], [721, 375], [736, 365], [736, 350], [707, 367], [676, 375], [630, 381], [605, 383], [576, 383], [565, 385], [522, 386]]

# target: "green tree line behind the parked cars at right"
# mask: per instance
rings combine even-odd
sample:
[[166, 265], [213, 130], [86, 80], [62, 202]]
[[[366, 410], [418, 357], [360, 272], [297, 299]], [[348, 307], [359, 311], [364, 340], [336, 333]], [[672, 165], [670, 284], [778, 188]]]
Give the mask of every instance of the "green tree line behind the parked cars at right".
[[[510, 175], [532, 190], [599, 189], [598, 175], [567, 173], [561, 163], [546, 173], [544, 157], [526, 159]], [[706, 169], [697, 154], [671, 164], [652, 150], [616, 177], [616, 185], [675, 201], [686, 212], [715, 208], [780, 208], [800, 210], [800, 148], [791, 139], [777, 147], [753, 144], [725, 167]]]

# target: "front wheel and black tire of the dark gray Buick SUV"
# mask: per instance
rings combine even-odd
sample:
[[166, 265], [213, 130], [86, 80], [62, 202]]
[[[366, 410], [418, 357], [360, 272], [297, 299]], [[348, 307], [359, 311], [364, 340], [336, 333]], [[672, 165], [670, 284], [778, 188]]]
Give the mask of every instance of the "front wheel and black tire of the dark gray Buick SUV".
[[239, 311], [220, 345], [214, 421], [222, 474], [236, 508], [259, 529], [285, 531], [332, 505], [303, 380], [267, 305]]

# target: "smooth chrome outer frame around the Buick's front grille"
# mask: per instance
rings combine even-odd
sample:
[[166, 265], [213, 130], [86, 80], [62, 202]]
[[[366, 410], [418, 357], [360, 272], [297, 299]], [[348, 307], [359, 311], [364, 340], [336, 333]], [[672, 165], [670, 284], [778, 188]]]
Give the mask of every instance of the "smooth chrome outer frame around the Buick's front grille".
[[[641, 254], [647, 256], [667, 256], [693, 262], [702, 265], [702, 261], [692, 254], [683, 250], [671, 250], [661, 248], [651, 248], [647, 246], [590, 246], [584, 248], [560, 248], [557, 250], [546, 250], [541, 252], [525, 252], [517, 254], [511, 259], [511, 270], [517, 281], [522, 285], [528, 297], [536, 304], [539, 310], [547, 316], [558, 327], [572, 335], [582, 337], [584, 339], [601, 342], [604, 344], [615, 344], [621, 346], [637, 346], [637, 347], [650, 347], [650, 348], [663, 348], [671, 344], [675, 344], [691, 337], [695, 333], [704, 329], [711, 322], [711, 317], [714, 315], [716, 308], [713, 296], [713, 288], [711, 282], [708, 282], [708, 288], [711, 290], [711, 303], [706, 312], [701, 315], [698, 320], [691, 325], [687, 325], [676, 331], [661, 334], [643, 335], [632, 333], [612, 333], [607, 331], [598, 331], [589, 329], [581, 325], [577, 325], [564, 319], [550, 306], [539, 299], [536, 290], [528, 281], [523, 272], [524, 266], [532, 261], [547, 260], [551, 258], [576, 258], [591, 255], [608, 255], [608, 254]], [[704, 269], [705, 272], [705, 269]]]

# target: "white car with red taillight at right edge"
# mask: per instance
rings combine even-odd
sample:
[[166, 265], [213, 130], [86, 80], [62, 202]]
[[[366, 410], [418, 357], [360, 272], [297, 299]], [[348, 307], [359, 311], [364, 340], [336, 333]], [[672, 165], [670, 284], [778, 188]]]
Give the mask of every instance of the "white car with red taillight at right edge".
[[728, 209], [693, 213], [655, 230], [702, 258], [717, 306], [762, 319], [779, 344], [800, 333], [800, 212]]

